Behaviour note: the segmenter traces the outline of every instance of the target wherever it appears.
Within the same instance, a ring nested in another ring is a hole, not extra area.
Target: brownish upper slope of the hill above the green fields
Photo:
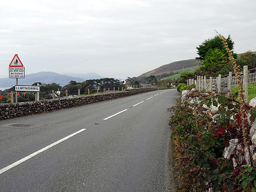
[[[137,78],[148,77],[150,75],[157,75],[157,74],[166,73],[174,70],[180,70],[182,68],[194,67],[197,65],[198,65],[198,60],[195,60],[195,59],[175,61],[166,65],[162,65],[154,70],[143,73]],[[202,65],[201,61],[199,61],[199,65]]]

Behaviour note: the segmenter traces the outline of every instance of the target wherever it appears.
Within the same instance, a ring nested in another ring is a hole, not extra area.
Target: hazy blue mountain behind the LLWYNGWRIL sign
[[[34,82],[50,84],[55,82],[60,86],[67,85],[70,81],[84,82],[83,78],[60,75],[54,72],[39,72],[25,75],[25,78],[18,78],[18,85],[32,85]],[[12,87],[16,84],[15,78],[0,78],[0,87]]]

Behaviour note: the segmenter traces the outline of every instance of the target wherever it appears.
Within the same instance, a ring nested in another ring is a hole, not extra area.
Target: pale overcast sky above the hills
[[[256,51],[255,0],[0,0],[0,78],[18,54],[26,74],[139,76],[197,57],[196,46],[231,36]]]

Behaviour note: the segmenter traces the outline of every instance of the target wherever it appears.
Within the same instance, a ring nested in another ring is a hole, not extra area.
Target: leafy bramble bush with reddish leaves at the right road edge
[[[234,95],[195,94],[193,98],[199,102],[179,102],[172,108],[174,115],[170,119],[178,190],[205,192],[212,188],[214,192],[255,192],[256,166],[244,156],[239,102],[234,100]],[[211,105],[218,107],[218,114],[207,111]],[[246,108],[253,121],[256,108]],[[250,126],[247,126],[249,138]],[[237,144],[232,154],[224,158],[224,148],[235,138],[241,149]]]

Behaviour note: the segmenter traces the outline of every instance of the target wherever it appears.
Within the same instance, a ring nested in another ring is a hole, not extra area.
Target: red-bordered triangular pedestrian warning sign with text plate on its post
[[[15,54],[12,61],[9,64],[9,78],[16,78],[16,85],[18,85],[18,78],[25,78],[25,67],[23,66],[18,54]],[[16,91],[16,103],[18,102],[18,96]]]

